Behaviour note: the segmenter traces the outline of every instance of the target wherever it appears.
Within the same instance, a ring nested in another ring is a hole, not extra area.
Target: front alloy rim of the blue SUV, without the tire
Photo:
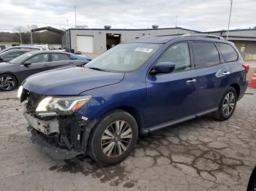
[[[132,141],[132,128],[123,120],[111,123],[105,128],[101,138],[102,152],[108,157],[118,157]]]

